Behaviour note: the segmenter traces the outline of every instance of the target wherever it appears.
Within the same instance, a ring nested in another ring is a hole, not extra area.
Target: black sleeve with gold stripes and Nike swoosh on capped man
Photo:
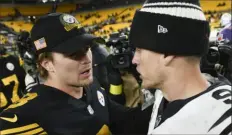
[[[38,124],[35,116],[38,109],[35,107],[36,93],[28,93],[18,102],[11,104],[0,114],[0,134],[46,134]]]

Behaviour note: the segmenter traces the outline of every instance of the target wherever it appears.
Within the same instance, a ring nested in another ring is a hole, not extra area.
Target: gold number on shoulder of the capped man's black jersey
[[[21,98],[19,101],[15,102],[14,104],[11,104],[7,109],[22,106],[26,104],[29,100],[32,100],[37,96],[38,96],[37,93],[27,93],[23,98]]]

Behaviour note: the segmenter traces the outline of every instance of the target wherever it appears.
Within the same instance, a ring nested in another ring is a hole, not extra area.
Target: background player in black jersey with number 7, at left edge
[[[0,112],[23,96],[25,74],[19,57],[0,46]]]

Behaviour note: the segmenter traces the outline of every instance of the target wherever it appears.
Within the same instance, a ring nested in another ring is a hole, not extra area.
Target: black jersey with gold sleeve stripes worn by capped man
[[[76,99],[53,87],[35,86],[0,114],[0,134],[109,135],[120,133],[129,118],[128,123],[135,123],[133,115],[140,109],[110,101],[94,84],[84,91]]]

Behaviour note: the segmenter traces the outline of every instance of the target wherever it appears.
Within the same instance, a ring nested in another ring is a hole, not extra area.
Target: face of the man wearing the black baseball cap
[[[92,53],[89,48],[71,55],[54,53],[53,57],[55,75],[62,83],[82,87],[93,81]]]

